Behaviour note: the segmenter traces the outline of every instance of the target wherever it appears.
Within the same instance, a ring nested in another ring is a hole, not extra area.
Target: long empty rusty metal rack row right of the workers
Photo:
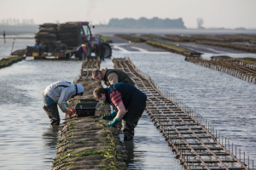
[[[186,169],[249,170],[250,164],[253,169],[253,161],[250,162],[249,156],[246,159],[245,152],[242,154],[241,150],[237,150],[206,119],[174,95],[159,90],[160,87],[150,77],[144,77],[130,59],[113,59],[113,63],[148,96],[148,115]]]

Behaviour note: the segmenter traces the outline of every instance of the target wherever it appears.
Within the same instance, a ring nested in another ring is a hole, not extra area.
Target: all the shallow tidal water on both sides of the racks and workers
[[[20,47],[34,43],[24,41]],[[230,144],[256,160],[256,84],[186,62],[178,54],[131,52],[122,46],[114,49],[113,57],[129,57],[161,88],[207,118],[214,129],[230,139]],[[0,53],[9,52],[1,47]],[[101,66],[113,68],[111,59],[105,60]],[[52,82],[73,82],[81,63],[27,58],[0,69],[0,169],[51,168],[60,132],[49,126],[42,109],[42,93]],[[64,117],[61,111],[60,116]],[[125,145],[130,169],[182,169],[147,114],[136,127],[134,140]]]

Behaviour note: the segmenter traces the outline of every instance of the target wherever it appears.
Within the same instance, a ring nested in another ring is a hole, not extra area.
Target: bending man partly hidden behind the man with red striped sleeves
[[[131,80],[125,72],[119,71],[117,69],[96,69],[92,71],[92,78],[96,79],[96,81],[103,81],[106,86],[110,86],[111,84],[115,84],[118,82],[125,82],[134,86],[135,83]]]

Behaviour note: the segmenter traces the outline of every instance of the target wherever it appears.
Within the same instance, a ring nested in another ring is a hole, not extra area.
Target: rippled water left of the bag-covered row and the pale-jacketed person
[[[81,63],[26,59],[0,70],[0,169],[50,169],[60,133],[49,126],[42,94],[52,82],[73,82]]]

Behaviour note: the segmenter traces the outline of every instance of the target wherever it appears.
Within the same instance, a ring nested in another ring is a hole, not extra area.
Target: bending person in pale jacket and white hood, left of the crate
[[[60,115],[57,105],[61,108],[61,111],[72,116],[76,114],[76,110],[70,105],[66,105],[67,100],[73,98],[76,95],[82,96],[84,94],[84,87],[82,84],[73,84],[72,82],[54,82],[50,84],[44,90],[44,111],[49,116],[50,124],[60,124]]]

